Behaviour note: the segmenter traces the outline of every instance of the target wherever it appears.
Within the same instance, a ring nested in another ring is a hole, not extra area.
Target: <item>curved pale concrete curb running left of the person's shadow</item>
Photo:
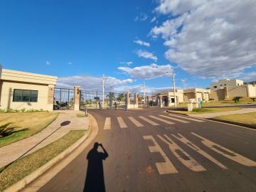
[[[72,151],[74,151],[76,148],[78,148],[78,146],[80,146],[80,144],[82,144],[82,142],[85,142],[85,140],[87,139],[87,137],[90,136],[90,134],[91,134],[91,122],[90,122],[90,118],[89,118],[89,129],[88,129],[88,132],[83,137],[81,137],[77,142],[75,142],[75,144],[73,144],[72,146],[68,147],[68,149],[65,149],[65,151],[63,151],[62,153],[58,154],[58,156],[55,156],[53,159],[48,161],[48,163],[44,164],[43,166],[41,166],[36,171],[33,171],[31,174],[29,174],[28,176],[22,178],[17,183],[14,183],[14,185],[10,186],[9,188],[6,188],[6,190],[4,190],[4,192],[20,191],[22,188],[25,188],[29,183],[31,183],[36,178],[38,178],[39,176],[44,174],[51,167],[53,167],[55,164],[57,164],[63,158],[65,158],[65,156],[68,156],[68,154],[70,154]]]

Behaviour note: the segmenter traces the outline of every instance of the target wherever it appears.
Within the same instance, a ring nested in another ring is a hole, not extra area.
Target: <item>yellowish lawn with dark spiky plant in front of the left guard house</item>
[[[58,113],[53,112],[0,113],[0,125],[11,123],[11,127],[15,127],[13,134],[0,137],[0,147],[40,132],[57,117]]]

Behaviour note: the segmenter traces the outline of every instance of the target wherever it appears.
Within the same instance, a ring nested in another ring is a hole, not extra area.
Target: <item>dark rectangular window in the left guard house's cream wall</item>
[[[38,91],[36,90],[14,90],[13,102],[37,102]]]

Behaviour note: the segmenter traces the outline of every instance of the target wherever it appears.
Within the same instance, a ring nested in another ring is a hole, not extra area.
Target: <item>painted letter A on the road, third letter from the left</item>
[[[203,151],[202,149],[200,149],[198,146],[196,146],[196,144],[193,144],[192,142],[188,141],[188,139],[186,139],[186,137],[183,137],[181,134],[178,134],[178,137],[174,134],[171,134],[173,137],[175,137],[176,139],[178,139],[179,141],[183,142],[183,144],[186,144],[187,146],[189,146],[191,149],[195,150],[196,152],[198,152],[199,154],[201,154],[202,156],[206,157],[206,159],[209,159],[210,161],[212,161],[214,164],[220,166],[222,169],[228,169],[226,166],[224,166],[223,164],[221,164],[219,161],[217,161],[216,159],[213,158],[213,156],[210,156],[208,153],[206,153],[206,151]]]

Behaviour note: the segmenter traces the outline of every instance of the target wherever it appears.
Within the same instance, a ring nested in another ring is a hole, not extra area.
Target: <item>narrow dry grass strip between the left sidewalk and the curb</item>
[[[28,176],[28,174],[31,174],[33,171],[46,164],[78,141],[84,134],[84,130],[70,131],[55,142],[34,151],[32,154],[24,156],[22,159],[14,161],[14,163],[4,169],[4,171],[1,169],[0,191],[4,191],[4,189],[20,181],[21,178]]]

